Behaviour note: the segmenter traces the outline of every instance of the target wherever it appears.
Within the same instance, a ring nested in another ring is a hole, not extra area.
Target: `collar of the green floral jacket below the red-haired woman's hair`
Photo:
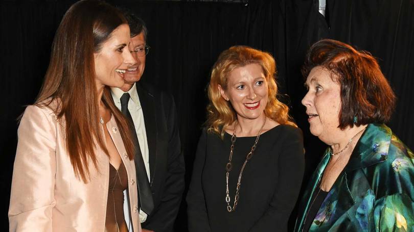
[[[346,172],[384,162],[391,142],[391,129],[384,124],[368,124],[352,152]]]

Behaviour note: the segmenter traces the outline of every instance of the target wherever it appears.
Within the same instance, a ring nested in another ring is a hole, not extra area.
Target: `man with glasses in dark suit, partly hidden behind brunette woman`
[[[172,231],[185,187],[185,164],[174,99],[140,81],[149,50],[147,29],[142,19],[129,12],[124,14],[130,27],[129,49],[137,63],[125,70],[124,86],[112,88],[111,94],[134,129],[132,138],[137,148],[134,161],[143,231]]]

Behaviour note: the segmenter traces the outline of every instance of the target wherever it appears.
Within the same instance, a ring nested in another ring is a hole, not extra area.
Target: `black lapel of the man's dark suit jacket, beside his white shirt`
[[[145,131],[147,134],[148,151],[149,151],[149,167],[150,167],[150,184],[155,173],[155,164],[157,157],[157,115],[155,111],[154,96],[143,88],[139,82],[136,83],[136,91],[140,97],[142,112],[144,114]]]

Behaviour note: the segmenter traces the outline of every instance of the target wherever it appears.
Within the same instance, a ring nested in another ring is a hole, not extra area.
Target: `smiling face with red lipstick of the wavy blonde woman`
[[[218,86],[221,96],[230,101],[238,117],[257,119],[267,105],[268,86],[262,66],[248,64],[227,76],[227,86]]]

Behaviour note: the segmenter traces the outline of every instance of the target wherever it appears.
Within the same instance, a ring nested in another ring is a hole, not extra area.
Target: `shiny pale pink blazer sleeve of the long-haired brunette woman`
[[[21,118],[8,213],[10,231],[52,231],[56,125],[49,108],[29,106]]]

